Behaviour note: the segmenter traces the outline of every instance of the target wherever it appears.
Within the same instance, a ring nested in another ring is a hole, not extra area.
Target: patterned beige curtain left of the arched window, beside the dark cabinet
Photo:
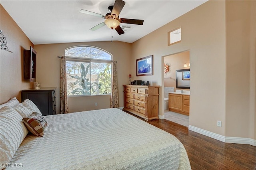
[[[66,57],[61,57],[60,64],[60,114],[68,113],[68,93],[66,75]]]

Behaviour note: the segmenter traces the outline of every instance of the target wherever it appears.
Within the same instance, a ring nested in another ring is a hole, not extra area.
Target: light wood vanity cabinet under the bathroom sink
[[[189,95],[169,93],[169,111],[189,116],[189,102]]]

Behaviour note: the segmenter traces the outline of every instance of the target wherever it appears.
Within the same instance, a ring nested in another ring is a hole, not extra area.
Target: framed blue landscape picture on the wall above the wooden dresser
[[[136,59],[136,75],[153,75],[153,55]]]

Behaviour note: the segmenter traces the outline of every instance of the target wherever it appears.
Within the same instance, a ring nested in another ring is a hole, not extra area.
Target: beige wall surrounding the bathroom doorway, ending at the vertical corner
[[[164,57],[190,50],[190,125],[225,134],[225,2],[208,1],[132,44],[132,68],[136,59],[154,55],[154,75],[160,85],[160,115],[163,111]],[[167,32],[181,26],[182,41],[167,46]],[[212,67],[209,67],[211,65]],[[134,69],[132,69],[134,70]],[[161,76],[162,75],[162,76]],[[148,77],[142,77],[143,80]],[[216,107],[218,106],[218,107]]]

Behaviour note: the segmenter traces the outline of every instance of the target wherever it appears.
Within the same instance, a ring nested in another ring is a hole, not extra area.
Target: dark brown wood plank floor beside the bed
[[[256,170],[255,146],[224,143],[166,119],[148,123],[173,134],[182,142],[192,170]]]

